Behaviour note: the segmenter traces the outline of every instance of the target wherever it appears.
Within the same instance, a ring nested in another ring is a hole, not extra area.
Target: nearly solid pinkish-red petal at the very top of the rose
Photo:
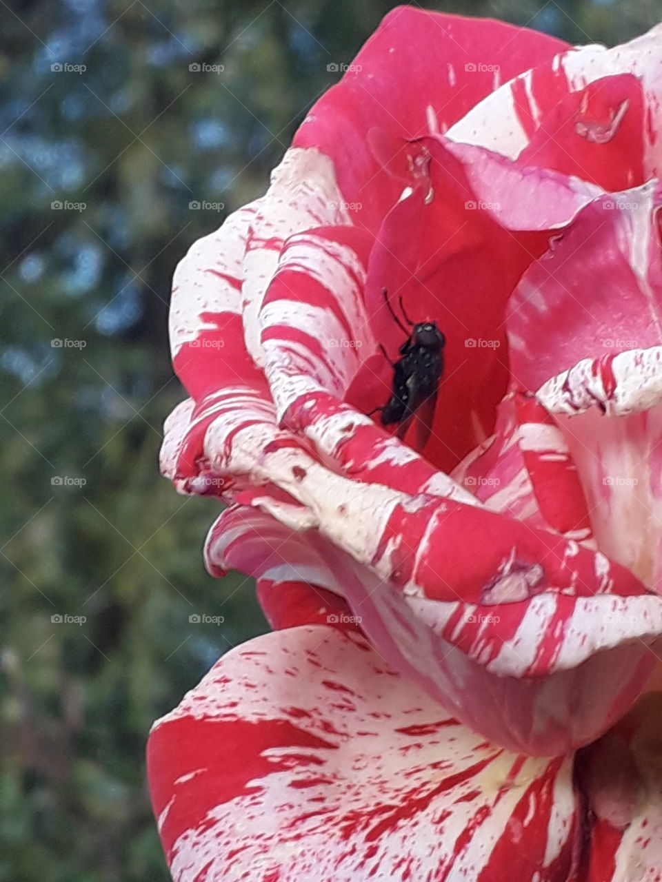
[[[563,49],[553,37],[500,21],[400,6],[312,107],[294,143],[333,158],[351,213],[375,233],[402,185],[373,150],[371,131],[402,140],[446,131],[500,83]]]

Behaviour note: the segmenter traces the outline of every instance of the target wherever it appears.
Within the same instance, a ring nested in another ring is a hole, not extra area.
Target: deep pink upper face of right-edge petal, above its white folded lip
[[[662,343],[658,183],[608,194],[583,208],[508,303],[516,381],[536,390],[583,359]],[[546,402],[545,402],[546,404]]]

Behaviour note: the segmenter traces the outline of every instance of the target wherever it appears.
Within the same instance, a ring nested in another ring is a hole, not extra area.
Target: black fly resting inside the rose
[[[387,303],[397,325],[407,334],[407,340],[400,347],[400,358],[393,364],[393,390],[381,410],[381,422],[384,426],[399,423],[397,437],[404,437],[414,417],[417,418],[417,446],[425,445],[433,423],[434,405],[441,375],[444,370],[443,350],[446,338],[434,322],[414,324],[408,318],[400,298],[400,309],[410,325],[408,330],[395,315],[393,306],[388,300],[387,289],[382,288]],[[386,351],[382,347],[384,355]],[[388,357],[388,356],[387,356]],[[372,411],[374,413],[374,411]]]

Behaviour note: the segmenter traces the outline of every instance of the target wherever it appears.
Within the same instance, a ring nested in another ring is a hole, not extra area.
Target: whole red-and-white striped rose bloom
[[[178,266],[162,470],[275,631],[154,725],[177,882],[662,879],[661,131],[660,27],[398,8]]]

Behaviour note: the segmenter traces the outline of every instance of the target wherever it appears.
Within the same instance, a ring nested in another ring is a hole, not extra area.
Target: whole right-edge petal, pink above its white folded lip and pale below
[[[508,316],[515,376],[537,391],[566,439],[599,548],[656,591],[660,207],[662,191],[653,182],[584,208],[524,275]]]

